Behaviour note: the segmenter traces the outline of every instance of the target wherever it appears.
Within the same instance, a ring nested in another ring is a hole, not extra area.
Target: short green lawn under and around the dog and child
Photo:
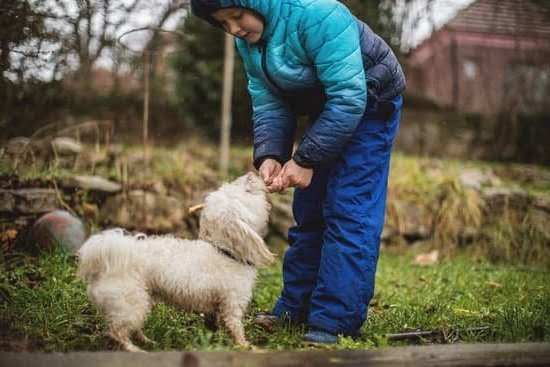
[[[369,320],[360,338],[342,338],[334,348],[365,349],[411,343],[550,342],[550,272],[536,266],[495,266],[457,256],[430,267],[410,265],[407,249],[384,249]],[[63,253],[0,262],[0,349],[48,352],[104,350],[114,345],[89,305],[85,285],[75,278],[74,260]],[[260,271],[246,335],[254,348],[295,350],[304,326],[264,331],[252,324],[268,311],[282,285],[281,264]],[[467,329],[486,327],[483,332]],[[387,334],[438,330],[420,341],[388,340]],[[457,332],[458,330],[458,332]],[[223,329],[212,331],[199,315],[160,304],[145,333],[157,342],[148,350],[231,350]]]

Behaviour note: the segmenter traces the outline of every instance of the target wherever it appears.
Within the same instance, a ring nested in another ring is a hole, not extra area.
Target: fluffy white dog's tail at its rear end
[[[78,250],[77,276],[89,281],[99,273],[132,271],[130,264],[135,263],[134,258],[139,252],[135,248],[138,239],[139,236],[128,235],[120,228],[91,236]]]

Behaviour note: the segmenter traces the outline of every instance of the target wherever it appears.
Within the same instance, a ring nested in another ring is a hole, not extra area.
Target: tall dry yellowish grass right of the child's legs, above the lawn
[[[450,257],[459,247],[473,245],[470,254],[491,262],[550,265],[550,231],[535,208],[506,207],[492,211],[481,195],[467,189],[458,179],[464,169],[497,172],[495,185],[521,189],[534,195],[550,195],[545,167],[419,158],[394,154],[388,188],[386,223],[399,227],[410,211],[402,213],[399,203],[414,203],[428,215],[434,247]],[[424,221],[426,222],[426,221]]]

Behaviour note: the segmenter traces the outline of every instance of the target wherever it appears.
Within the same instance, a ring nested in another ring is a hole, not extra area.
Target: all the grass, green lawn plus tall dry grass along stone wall
[[[189,139],[176,148],[155,147],[152,154],[150,164],[145,166],[139,147],[124,146],[111,165],[83,163],[77,169],[21,165],[17,173],[21,180],[48,181],[73,173],[97,174],[130,187],[146,188],[162,181],[170,192],[183,195],[219,184],[217,153],[209,144]],[[231,154],[228,179],[252,169],[249,147],[234,147]],[[0,173],[12,173],[1,150],[0,158]],[[368,322],[358,339],[342,338],[335,348],[365,349],[413,342],[550,342],[550,233],[536,227],[529,212],[519,213],[519,217],[518,213],[505,212],[489,221],[483,219],[479,196],[465,190],[456,179],[463,168],[491,170],[506,186],[550,193],[545,180],[550,171],[545,168],[394,154],[388,219],[399,223],[403,215],[392,206],[393,200],[426,207],[433,218],[430,240],[442,252],[442,261],[430,267],[415,267],[410,265],[413,249],[398,245],[384,248]],[[81,202],[91,200],[86,192],[81,195]],[[7,228],[11,227],[2,227]],[[481,230],[470,242],[460,244],[459,236],[468,228]],[[284,247],[277,237],[272,238],[271,245],[274,249]],[[266,332],[252,323],[254,315],[271,309],[281,287],[280,263],[260,272],[246,316],[247,337],[258,349],[303,348],[300,341],[304,326],[285,325]],[[487,329],[468,331],[478,327]],[[0,254],[0,350],[113,348],[104,330],[100,315],[87,301],[85,285],[75,278],[74,259],[61,252],[39,258]],[[438,333],[408,342],[387,337],[411,330]],[[234,348],[223,329],[210,330],[199,315],[184,314],[164,304],[151,313],[145,333],[157,341],[156,345],[146,346],[149,350]]]

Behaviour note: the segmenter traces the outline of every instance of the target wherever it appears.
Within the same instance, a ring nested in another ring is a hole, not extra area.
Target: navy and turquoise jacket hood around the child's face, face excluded
[[[269,39],[281,13],[281,0],[191,0],[191,12],[197,17],[220,27],[212,13],[224,8],[245,8],[260,15],[264,22],[262,39]]]

